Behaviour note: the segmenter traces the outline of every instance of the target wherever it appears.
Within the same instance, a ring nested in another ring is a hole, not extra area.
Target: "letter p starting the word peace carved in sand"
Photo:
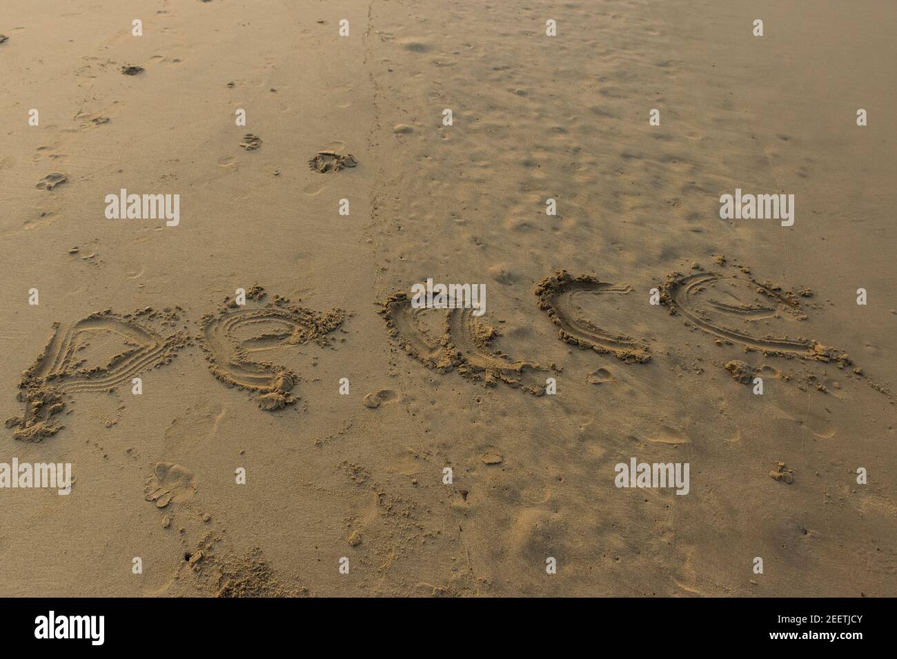
[[[178,320],[176,311],[145,308],[126,316],[107,309],[65,330],[54,323],[53,335],[19,383],[17,399],[25,403],[25,411],[7,419],[6,428],[25,441],[56,435],[64,428],[55,420],[65,409],[64,395],[129,386],[138,373],[169,363],[186,345],[187,335],[164,334],[161,326],[174,327]],[[99,363],[87,366],[89,358]]]

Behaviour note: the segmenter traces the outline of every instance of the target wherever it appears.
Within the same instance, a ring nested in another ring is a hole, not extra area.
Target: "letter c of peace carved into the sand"
[[[565,270],[560,270],[553,277],[545,277],[536,285],[536,297],[539,299],[539,308],[558,326],[558,338],[561,341],[599,353],[612,354],[626,362],[644,363],[651,359],[647,342],[628,334],[605,330],[574,312],[579,295],[625,295],[630,290],[628,286],[600,282],[588,274],[573,277]]]

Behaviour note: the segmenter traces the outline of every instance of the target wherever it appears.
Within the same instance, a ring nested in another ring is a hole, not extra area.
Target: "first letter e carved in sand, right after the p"
[[[319,314],[278,295],[268,304],[265,298],[265,290],[254,286],[247,292],[246,307],[225,299],[219,313],[203,318],[202,340],[214,377],[256,392],[258,406],[271,411],[295,402],[290,391],[298,377],[286,367],[253,360],[251,354],[309,341],[327,344],[327,334],[342,325],[345,312],[333,308]]]

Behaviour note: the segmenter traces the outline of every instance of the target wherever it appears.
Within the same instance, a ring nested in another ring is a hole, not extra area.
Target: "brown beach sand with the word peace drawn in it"
[[[897,594],[895,21],[4,0],[0,594]]]

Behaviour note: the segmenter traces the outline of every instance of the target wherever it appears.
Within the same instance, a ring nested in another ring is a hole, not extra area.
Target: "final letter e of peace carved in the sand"
[[[692,268],[697,269],[697,268]],[[739,343],[761,351],[804,360],[850,363],[848,355],[814,339],[791,339],[784,334],[761,334],[762,325],[806,318],[796,293],[756,282],[745,274],[673,273],[661,289],[660,301],[671,314],[682,316],[724,343]]]

